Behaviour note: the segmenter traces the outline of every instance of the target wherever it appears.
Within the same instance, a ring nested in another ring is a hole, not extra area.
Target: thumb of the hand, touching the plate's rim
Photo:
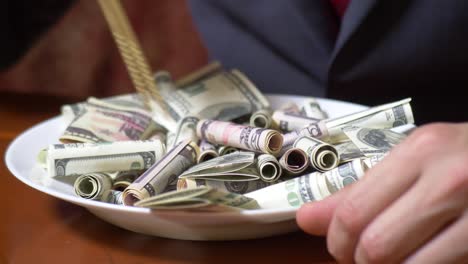
[[[296,213],[299,227],[311,235],[326,235],[336,207],[346,197],[353,185],[341,189],[321,201],[304,204]]]

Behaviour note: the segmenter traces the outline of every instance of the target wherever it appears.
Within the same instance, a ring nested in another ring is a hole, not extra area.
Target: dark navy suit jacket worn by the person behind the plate
[[[417,124],[468,121],[468,1],[190,0],[213,59],[270,93],[366,105],[412,97]]]

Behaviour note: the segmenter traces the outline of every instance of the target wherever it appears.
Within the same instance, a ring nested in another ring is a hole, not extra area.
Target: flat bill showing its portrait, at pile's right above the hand
[[[390,129],[347,126],[343,132],[368,157],[385,154],[406,138],[405,134]]]

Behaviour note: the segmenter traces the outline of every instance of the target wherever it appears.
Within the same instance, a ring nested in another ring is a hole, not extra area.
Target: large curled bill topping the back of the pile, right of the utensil
[[[219,71],[179,89],[167,72],[158,72],[155,79],[169,115],[153,113],[153,118],[171,132],[186,116],[227,121],[270,107],[266,97],[236,69]]]

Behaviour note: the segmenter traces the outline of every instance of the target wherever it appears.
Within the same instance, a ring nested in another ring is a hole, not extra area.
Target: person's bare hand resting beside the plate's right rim
[[[415,129],[357,183],[304,205],[297,222],[327,234],[349,263],[468,259],[468,123]]]

